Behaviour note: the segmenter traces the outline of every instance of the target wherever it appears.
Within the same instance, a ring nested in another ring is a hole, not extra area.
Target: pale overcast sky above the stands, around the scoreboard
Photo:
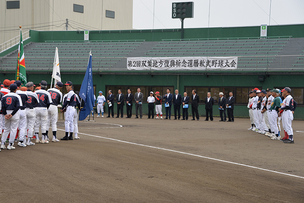
[[[180,20],[171,18],[172,2],[184,1],[185,0],[133,0],[133,28],[180,28]],[[270,25],[304,24],[304,0],[190,1],[194,2],[194,18],[185,19],[185,28],[269,24],[270,2]]]

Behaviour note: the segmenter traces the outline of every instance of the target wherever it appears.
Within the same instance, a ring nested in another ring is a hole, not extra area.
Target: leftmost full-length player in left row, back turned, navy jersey
[[[19,125],[19,107],[22,106],[21,98],[16,94],[17,85],[10,85],[10,93],[3,96],[2,103],[2,114],[5,117],[4,120],[4,132],[1,139],[1,149],[5,149],[5,142],[8,134],[16,135],[17,127]],[[8,150],[15,149],[14,147],[15,136],[10,136]]]

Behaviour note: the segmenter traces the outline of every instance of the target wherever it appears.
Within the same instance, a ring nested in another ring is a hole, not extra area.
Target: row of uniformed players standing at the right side
[[[251,127],[255,131],[270,137],[272,140],[281,140],[293,144],[292,121],[297,103],[291,96],[291,89],[259,90],[249,92],[249,116]],[[281,121],[284,137],[281,137]]]

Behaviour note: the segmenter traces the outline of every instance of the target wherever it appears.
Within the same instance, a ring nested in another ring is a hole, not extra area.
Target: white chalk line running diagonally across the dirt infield
[[[119,124],[116,124],[116,125],[119,125]],[[123,127],[122,125],[120,125],[120,126]],[[58,129],[58,130],[65,131],[64,129]],[[283,173],[283,172],[274,171],[274,170],[270,170],[270,169],[260,168],[260,167],[251,166],[251,165],[247,165],[247,164],[241,164],[241,163],[237,163],[237,162],[233,162],[233,161],[226,161],[226,160],[207,157],[207,156],[202,156],[202,155],[198,155],[198,154],[192,154],[192,153],[188,153],[188,152],[182,152],[182,151],[173,150],[173,149],[167,149],[167,148],[156,147],[156,146],[151,146],[151,145],[146,145],[146,144],[129,142],[129,141],[125,141],[125,140],[119,140],[119,139],[116,139],[116,138],[103,137],[103,136],[98,136],[98,135],[91,135],[91,134],[88,134],[88,133],[78,133],[78,134],[86,135],[86,136],[89,136],[89,137],[95,137],[95,138],[99,138],[99,139],[111,140],[111,141],[114,141],[114,142],[120,142],[120,143],[135,145],[135,146],[141,146],[141,147],[146,147],[146,148],[151,148],[151,149],[158,149],[158,150],[162,150],[162,151],[167,151],[167,152],[173,152],[173,153],[177,153],[177,154],[183,154],[183,155],[198,157],[198,158],[202,158],[202,159],[208,159],[208,160],[222,162],[222,163],[226,163],[226,164],[243,166],[243,167],[246,167],[246,168],[256,169],[256,170],[260,170],[260,171],[266,171],[266,172],[275,173],[275,174],[284,175],[284,176],[289,176],[289,177],[294,177],[294,178],[304,179],[303,176],[293,175],[293,174],[289,174],[289,173]]]

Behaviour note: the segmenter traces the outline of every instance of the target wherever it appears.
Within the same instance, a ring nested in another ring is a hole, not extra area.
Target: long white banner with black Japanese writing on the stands
[[[206,70],[236,69],[238,57],[133,57],[128,70]]]

